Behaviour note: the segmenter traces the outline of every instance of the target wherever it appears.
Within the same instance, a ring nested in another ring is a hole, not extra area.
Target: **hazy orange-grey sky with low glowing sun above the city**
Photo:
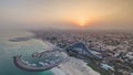
[[[0,0],[0,29],[132,30],[133,0]]]

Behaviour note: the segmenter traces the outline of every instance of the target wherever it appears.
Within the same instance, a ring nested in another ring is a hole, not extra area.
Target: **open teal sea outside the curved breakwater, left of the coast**
[[[22,42],[10,42],[10,39],[30,35],[25,31],[0,31],[0,75],[53,75],[51,71],[45,72],[25,72],[18,68],[13,63],[13,56],[22,54],[30,58],[30,55],[37,51],[45,49],[44,43],[39,40],[29,40]]]

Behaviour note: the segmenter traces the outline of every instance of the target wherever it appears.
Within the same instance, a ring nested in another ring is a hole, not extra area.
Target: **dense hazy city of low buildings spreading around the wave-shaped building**
[[[79,30],[32,31],[37,39],[49,41],[64,49],[82,42],[92,51],[100,52],[102,61],[84,60],[89,66],[101,75],[132,75],[133,72],[133,34],[122,32],[94,32]],[[93,62],[93,64],[90,63]],[[96,67],[94,67],[96,66]]]

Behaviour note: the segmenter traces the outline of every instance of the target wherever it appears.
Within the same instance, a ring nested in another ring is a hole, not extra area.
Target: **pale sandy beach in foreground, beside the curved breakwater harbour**
[[[55,75],[100,75],[81,60],[71,57],[69,62],[51,69]]]

